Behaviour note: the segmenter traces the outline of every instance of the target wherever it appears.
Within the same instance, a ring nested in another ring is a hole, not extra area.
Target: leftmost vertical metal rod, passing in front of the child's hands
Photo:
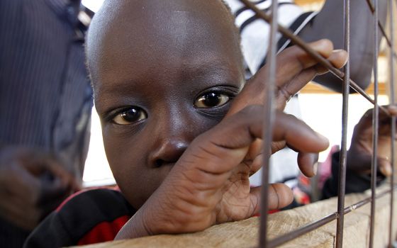
[[[277,34],[277,11],[278,1],[272,0],[272,19],[270,22],[270,38],[267,57],[269,58],[269,79],[267,80],[266,102],[264,103],[264,122],[263,122],[263,169],[262,169],[262,192],[261,192],[261,219],[259,227],[259,247],[267,247],[267,217],[269,211],[269,169],[274,120],[274,89],[276,85],[276,34]]]

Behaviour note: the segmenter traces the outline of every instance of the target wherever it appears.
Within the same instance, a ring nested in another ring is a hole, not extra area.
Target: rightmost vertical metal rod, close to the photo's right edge
[[[395,96],[394,96],[394,9],[393,9],[393,0],[389,0],[389,9],[390,9],[390,103],[392,105],[396,104]],[[393,247],[393,210],[394,210],[394,161],[396,157],[394,157],[394,149],[396,145],[396,117],[391,118],[391,179],[390,179],[390,187],[391,187],[391,195],[390,195],[390,222],[388,226],[388,247]]]

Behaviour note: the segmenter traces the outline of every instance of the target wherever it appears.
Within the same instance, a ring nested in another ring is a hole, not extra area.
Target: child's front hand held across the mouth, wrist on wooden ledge
[[[249,176],[259,163],[245,160],[262,138],[263,106],[249,106],[199,135],[150,196],[118,233],[117,239],[204,230],[242,220],[259,211],[260,187],[250,188]],[[320,152],[328,140],[292,115],[277,112],[274,140],[286,140],[301,152]],[[292,201],[284,184],[269,188],[269,208]]]

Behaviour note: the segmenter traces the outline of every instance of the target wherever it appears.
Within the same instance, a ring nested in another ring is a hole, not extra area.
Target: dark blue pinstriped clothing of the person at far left
[[[52,152],[81,179],[92,93],[79,6],[69,0],[0,1],[0,147]],[[21,247],[27,232],[17,230],[0,220],[0,247]],[[14,238],[19,245],[11,246]]]

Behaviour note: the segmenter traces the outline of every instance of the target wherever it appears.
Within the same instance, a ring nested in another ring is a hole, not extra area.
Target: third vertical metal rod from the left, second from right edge
[[[372,114],[372,163],[371,163],[371,218],[369,231],[369,247],[374,247],[374,225],[375,225],[375,203],[376,203],[376,172],[378,171],[378,124],[379,124],[379,108],[378,108],[378,55],[379,55],[379,31],[378,31],[378,0],[374,0],[374,111]]]

